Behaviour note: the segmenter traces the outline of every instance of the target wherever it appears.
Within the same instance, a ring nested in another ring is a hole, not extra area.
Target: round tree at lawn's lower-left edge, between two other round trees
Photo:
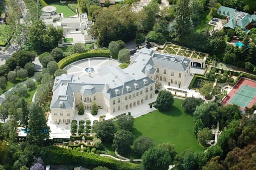
[[[114,134],[113,148],[118,153],[124,154],[130,151],[130,145],[133,143],[133,135],[129,131],[120,130]]]

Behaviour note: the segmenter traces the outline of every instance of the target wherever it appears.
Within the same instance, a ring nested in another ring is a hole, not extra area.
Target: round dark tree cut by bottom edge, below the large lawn
[[[146,170],[167,170],[170,159],[168,151],[158,147],[149,148],[141,157]]]

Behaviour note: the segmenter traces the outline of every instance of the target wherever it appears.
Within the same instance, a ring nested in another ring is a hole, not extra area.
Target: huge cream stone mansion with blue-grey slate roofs
[[[190,60],[141,49],[130,57],[126,69],[107,65],[98,70],[88,67],[85,72],[88,76],[83,79],[72,74],[56,77],[50,106],[52,123],[70,123],[79,101],[85,109],[91,109],[96,101],[109,114],[139,107],[154,95],[155,80],[183,85],[189,77]]]

